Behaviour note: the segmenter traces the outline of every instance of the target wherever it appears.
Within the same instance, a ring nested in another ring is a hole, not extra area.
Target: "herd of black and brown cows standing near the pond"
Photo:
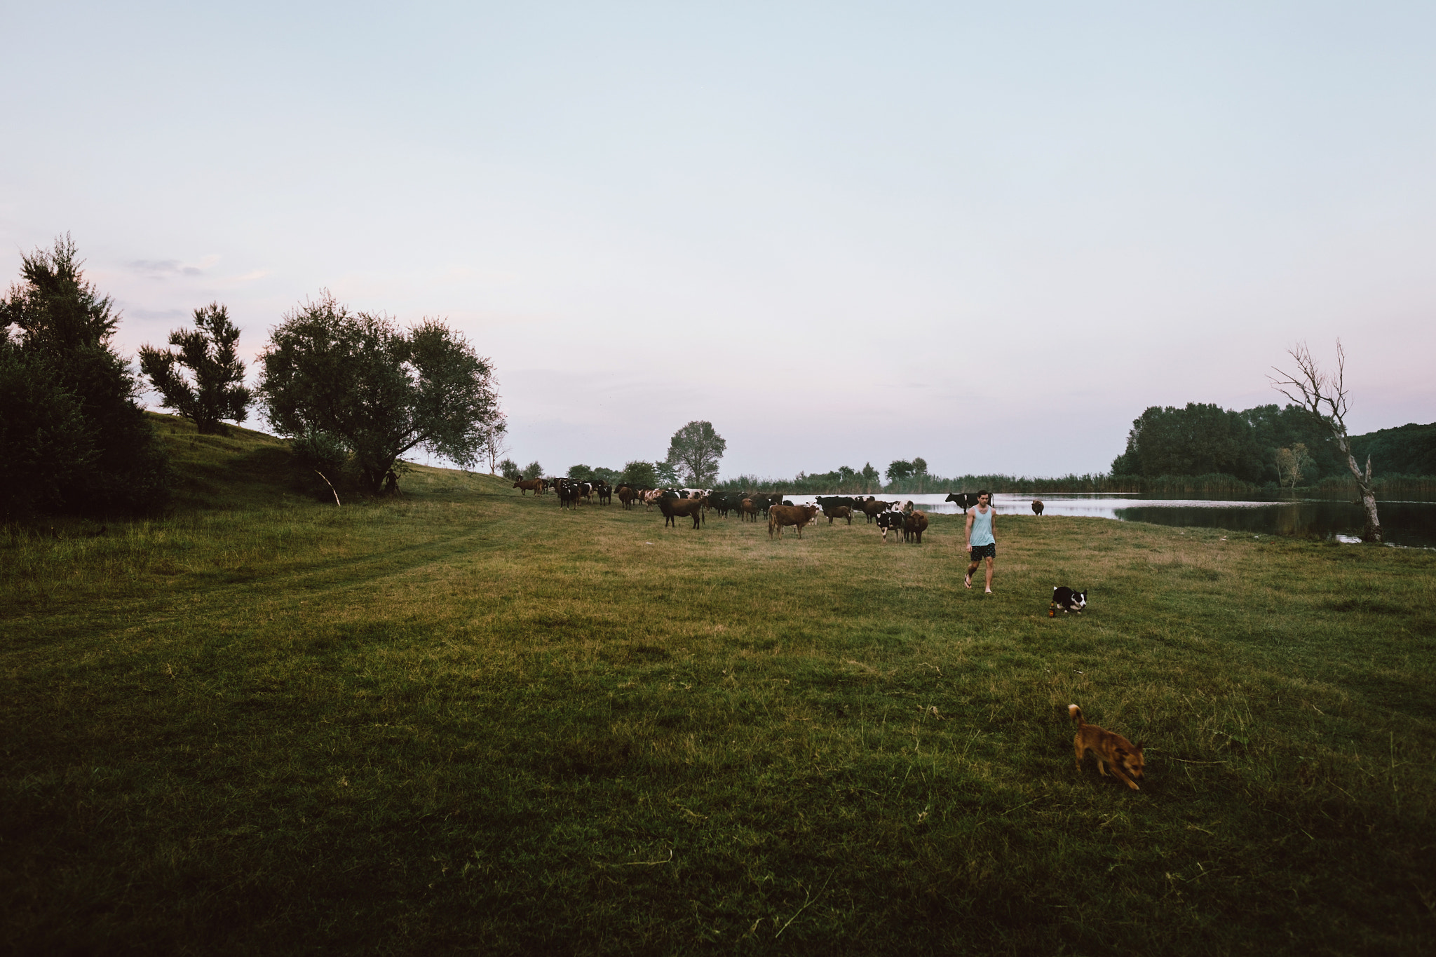
[[[607,482],[579,482],[566,478],[537,478],[514,482],[520,495],[533,492],[543,495],[553,489],[559,496],[559,508],[577,508],[580,502],[610,505],[615,498],[623,508],[633,508],[635,502],[645,508],[658,506],[663,514],[663,528],[672,525],[678,528],[679,518],[691,518],[694,528],[699,528],[707,521],[709,511],[718,512],[722,518],[737,512],[738,521],[758,521],[758,515],[768,519],[768,538],[777,532],[783,538],[783,529],[793,525],[798,538],[803,538],[803,528],[817,521],[819,515],[827,518],[831,525],[837,519],[853,524],[854,515],[863,515],[869,524],[876,524],[882,529],[883,541],[887,532],[893,532],[896,541],[902,534],[903,541],[922,544],[922,534],[928,531],[928,517],[913,509],[912,502],[885,502],[873,498],[856,498],[850,495],[819,495],[814,505],[794,505],[781,495],[768,492],[711,492],[694,488],[633,488]],[[952,492],[946,501],[956,502],[958,508],[966,511],[978,504],[978,496],[971,492]],[[1041,502],[1032,502],[1032,511],[1041,515]]]

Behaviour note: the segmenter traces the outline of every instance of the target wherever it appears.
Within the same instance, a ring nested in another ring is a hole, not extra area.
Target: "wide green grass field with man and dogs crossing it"
[[[984,598],[952,517],[336,508],[162,430],[172,517],[0,538],[13,951],[1436,944],[1432,552],[1004,517]]]

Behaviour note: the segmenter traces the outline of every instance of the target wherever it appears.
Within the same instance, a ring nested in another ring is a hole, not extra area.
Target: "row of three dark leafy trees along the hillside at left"
[[[253,403],[296,461],[330,486],[378,494],[414,451],[471,466],[505,430],[493,363],[425,319],[401,327],[323,293],[286,313],[244,386],[240,330],[220,303],[194,310],[172,349],[144,346],[139,374],[113,349],[113,300],[80,271],[75,242],[22,255],[0,298],[0,514],[139,514],[174,475],[138,396],[223,435]],[[337,496],[336,496],[337,498]]]

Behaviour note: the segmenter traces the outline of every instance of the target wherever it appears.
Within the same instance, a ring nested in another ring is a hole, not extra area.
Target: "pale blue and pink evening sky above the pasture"
[[[128,356],[214,300],[247,359],[323,290],[442,319],[550,473],[694,419],[724,476],[1100,472],[1147,406],[1279,402],[1337,339],[1353,433],[1436,420],[1436,4],[0,24],[0,281],[70,234]]]

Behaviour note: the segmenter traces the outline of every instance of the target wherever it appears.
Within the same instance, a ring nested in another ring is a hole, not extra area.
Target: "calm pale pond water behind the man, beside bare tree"
[[[946,492],[929,495],[879,495],[892,501],[912,501],[925,512],[956,512],[943,502]],[[1229,528],[1252,535],[1320,535],[1358,541],[1364,515],[1360,505],[1317,499],[1232,501],[1199,498],[1143,498],[1142,495],[1041,495],[1044,515],[1083,515],[1114,518],[1126,522],[1157,525]],[[811,502],[811,495],[790,495],[797,504]],[[1031,515],[1031,495],[995,495],[998,515]],[[1436,548],[1436,502],[1377,501],[1381,531],[1396,545]]]

